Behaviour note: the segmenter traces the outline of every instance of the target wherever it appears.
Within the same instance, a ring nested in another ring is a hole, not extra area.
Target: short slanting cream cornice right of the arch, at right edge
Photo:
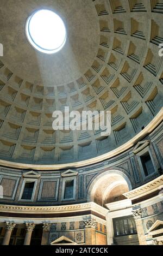
[[[162,187],[163,187],[163,175],[161,175],[158,178],[155,178],[155,180],[150,181],[139,188],[135,188],[127,193],[124,193],[123,195],[128,199],[134,200],[134,199],[143,197],[149,193],[152,193],[155,190],[161,189]]]

